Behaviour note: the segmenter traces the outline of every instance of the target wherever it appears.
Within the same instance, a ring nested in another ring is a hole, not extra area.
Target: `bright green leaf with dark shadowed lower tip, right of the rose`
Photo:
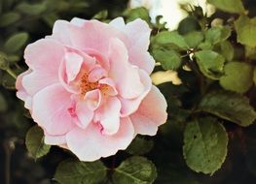
[[[201,73],[211,79],[219,79],[223,74],[225,59],[212,50],[201,50],[195,53]]]

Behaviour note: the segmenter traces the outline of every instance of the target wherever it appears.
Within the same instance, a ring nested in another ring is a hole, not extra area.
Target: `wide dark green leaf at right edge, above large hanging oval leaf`
[[[256,119],[256,111],[250,106],[249,99],[229,91],[206,94],[201,99],[199,110],[237,123],[242,127],[249,126]]]

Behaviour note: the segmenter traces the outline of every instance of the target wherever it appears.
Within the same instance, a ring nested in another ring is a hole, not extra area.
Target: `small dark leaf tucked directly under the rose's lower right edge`
[[[154,141],[151,139],[136,137],[129,144],[127,151],[131,155],[144,155],[151,151]]]

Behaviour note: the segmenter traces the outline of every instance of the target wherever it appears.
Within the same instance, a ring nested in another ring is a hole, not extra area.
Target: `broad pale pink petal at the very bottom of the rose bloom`
[[[116,135],[102,135],[100,129],[95,123],[91,123],[86,130],[74,129],[66,137],[68,148],[81,161],[95,161],[126,149],[134,137],[134,129],[129,118],[121,119],[120,130]]]

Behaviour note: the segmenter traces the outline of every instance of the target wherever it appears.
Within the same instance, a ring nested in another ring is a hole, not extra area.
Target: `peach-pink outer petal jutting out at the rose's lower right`
[[[129,116],[136,134],[156,135],[158,127],[166,121],[166,107],[165,97],[160,90],[153,85],[138,110]]]

